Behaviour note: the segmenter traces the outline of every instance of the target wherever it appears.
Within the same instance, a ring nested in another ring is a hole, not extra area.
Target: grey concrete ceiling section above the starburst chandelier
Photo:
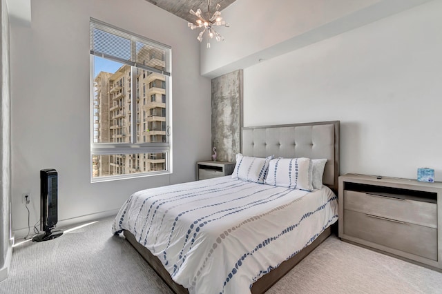
[[[158,6],[159,8],[162,8],[166,11],[171,12],[172,14],[175,14],[177,17],[181,17],[182,19],[185,19],[189,22],[194,22],[196,17],[195,15],[192,15],[189,13],[191,9],[197,10],[200,8],[202,12],[207,11],[207,1],[206,0],[146,0],[150,3],[152,3],[155,6]],[[215,12],[215,6],[216,4],[220,3],[220,10],[223,10],[227,6],[229,6],[231,3],[235,2],[236,0],[213,0],[211,3],[211,12]]]

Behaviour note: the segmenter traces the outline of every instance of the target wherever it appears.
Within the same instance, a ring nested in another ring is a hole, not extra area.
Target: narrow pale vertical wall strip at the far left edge
[[[0,282],[8,277],[8,268],[12,255],[12,238],[10,222],[11,203],[11,131],[10,131],[10,62],[9,62],[9,17],[6,0],[0,3],[1,18],[1,104],[0,104]]]

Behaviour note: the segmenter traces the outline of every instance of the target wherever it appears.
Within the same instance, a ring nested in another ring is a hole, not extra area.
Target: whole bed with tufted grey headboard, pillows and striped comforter
[[[338,219],[339,125],[242,128],[232,176],[138,191],[113,233],[124,232],[175,293],[264,293]],[[316,188],[314,173],[301,173],[313,159],[327,159]]]

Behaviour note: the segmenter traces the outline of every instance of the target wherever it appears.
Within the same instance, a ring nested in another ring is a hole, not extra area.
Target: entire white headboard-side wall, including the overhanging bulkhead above
[[[244,126],[340,120],[341,174],[442,181],[442,1],[329,2],[236,1],[202,75],[244,68]]]

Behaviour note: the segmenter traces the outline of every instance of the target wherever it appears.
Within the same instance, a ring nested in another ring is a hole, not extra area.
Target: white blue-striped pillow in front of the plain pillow
[[[265,184],[311,191],[312,173],[313,166],[309,158],[272,159]]]

